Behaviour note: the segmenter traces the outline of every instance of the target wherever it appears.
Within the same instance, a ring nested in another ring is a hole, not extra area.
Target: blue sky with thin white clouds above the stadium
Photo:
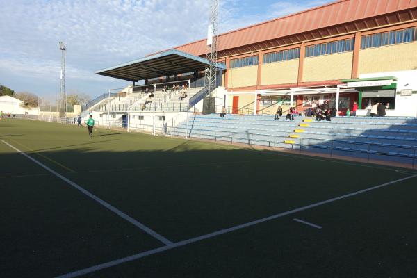
[[[224,33],[329,0],[220,0]],[[130,85],[94,74],[206,36],[209,0],[0,0],[0,84],[43,97],[60,90],[59,41],[67,43],[66,91],[97,97]]]

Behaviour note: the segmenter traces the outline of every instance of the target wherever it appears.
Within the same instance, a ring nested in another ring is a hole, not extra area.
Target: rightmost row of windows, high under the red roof
[[[414,41],[417,41],[417,28],[407,28],[386,33],[364,35],[361,38],[361,49]]]

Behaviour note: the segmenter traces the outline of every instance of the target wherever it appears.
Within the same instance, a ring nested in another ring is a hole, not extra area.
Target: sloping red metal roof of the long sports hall
[[[417,0],[336,1],[328,3],[324,6],[304,10],[300,13],[279,17],[268,22],[223,33],[222,35],[219,35],[218,51],[224,51],[224,54],[227,54],[228,49],[234,49],[270,40],[277,40],[279,38],[295,34],[346,24],[348,22],[357,22],[361,19],[395,13],[410,8],[417,8]],[[409,13],[409,15],[406,14],[406,17],[406,20],[417,19],[416,11],[413,10]],[[389,17],[386,18],[385,22],[382,22],[382,24],[391,23],[392,22],[389,21]],[[342,28],[341,33],[343,33],[343,31],[350,30],[347,27],[345,29]],[[332,35],[332,32],[328,33]],[[291,39],[290,42],[292,42]],[[189,54],[201,56],[206,54],[206,39],[191,42],[189,44],[183,44],[174,48]],[[229,55],[230,54],[232,53],[229,53]]]

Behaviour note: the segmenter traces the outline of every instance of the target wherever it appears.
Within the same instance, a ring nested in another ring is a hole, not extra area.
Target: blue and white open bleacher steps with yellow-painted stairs
[[[316,122],[308,117],[294,121],[273,120],[265,115],[193,115],[188,133],[195,138],[215,138],[231,142],[297,148],[314,152],[334,152],[342,155],[368,157],[387,156],[389,161],[417,158],[417,120],[336,117],[332,122]],[[307,129],[298,129],[303,127]],[[186,133],[180,124],[178,133]],[[289,138],[289,139],[288,139]]]

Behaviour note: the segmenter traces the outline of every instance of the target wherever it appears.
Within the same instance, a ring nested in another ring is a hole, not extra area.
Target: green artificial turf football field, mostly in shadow
[[[417,277],[411,170],[9,119],[0,157],[1,278]]]

